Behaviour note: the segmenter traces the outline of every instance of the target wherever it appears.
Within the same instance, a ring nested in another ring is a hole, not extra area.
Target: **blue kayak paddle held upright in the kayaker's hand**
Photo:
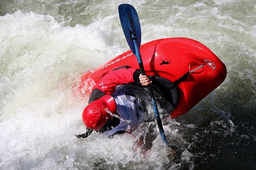
[[[121,4],[118,6],[118,12],[119,12],[119,17],[122,25],[122,29],[124,31],[124,35],[126,38],[126,41],[132,50],[132,53],[137,57],[140,70],[142,75],[146,75],[144,66],[142,63],[141,55],[140,55],[140,43],[141,43],[141,30],[140,30],[140,20],[138,17],[138,14],[136,10],[133,8],[133,6],[129,4]],[[154,108],[154,113],[156,117],[156,122],[158,125],[158,129],[162,138],[162,141],[166,144],[169,145],[166,136],[164,134],[164,129],[162,126],[162,122],[160,119],[160,115],[158,113],[158,108],[156,105],[156,100],[154,98],[154,94],[152,92],[151,86],[147,86],[148,92],[150,94],[151,102]]]

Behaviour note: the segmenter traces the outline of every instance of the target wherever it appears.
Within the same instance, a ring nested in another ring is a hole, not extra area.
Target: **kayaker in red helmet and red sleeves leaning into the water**
[[[128,83],[148,86],[152,81],[142,76],[141,71],[130,66],[118,67],[108,72],[93,88],[82,113],[86,133],[76,135],[85,138],[92,131],[110,136],[116,133],[132,132],[138,125],[146,103],[136,98],[129,89],[119,86]]]

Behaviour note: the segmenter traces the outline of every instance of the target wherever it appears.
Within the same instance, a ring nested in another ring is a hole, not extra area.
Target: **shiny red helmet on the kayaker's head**
[[[112,113],[116,112],[116,102],[112,96],[104,95],[91,102],[82,113],[84,125],[95,131],[102,129],[108,119],[112,117],[107,110]]]

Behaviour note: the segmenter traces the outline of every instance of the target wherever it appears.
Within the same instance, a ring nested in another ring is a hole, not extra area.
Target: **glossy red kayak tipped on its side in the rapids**
[[[172,117],[189,111],[226,78],[226,66],[202,43],[188,38],[150,41],[140,47],[147,75],[160,107]],[[80,93],[89,95],[92,87],[108,71],[128,65],[138,68],[132,51],[118,55],[81,77]]]

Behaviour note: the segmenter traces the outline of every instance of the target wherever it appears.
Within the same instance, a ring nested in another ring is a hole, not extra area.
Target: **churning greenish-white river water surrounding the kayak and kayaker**
[[[178,159],[153,119],[131,135],[74,136],[85,131],[88,99],[72,95],[72,86],[129,50],[122,3],[138,12],[142,44],[192,38],[227,67],[216,90],[163,120]],[[0,132],[0,169],[256,169],[256,1],[0,0]],[[141,136],[151,144],[146,154],[136,144]]]

